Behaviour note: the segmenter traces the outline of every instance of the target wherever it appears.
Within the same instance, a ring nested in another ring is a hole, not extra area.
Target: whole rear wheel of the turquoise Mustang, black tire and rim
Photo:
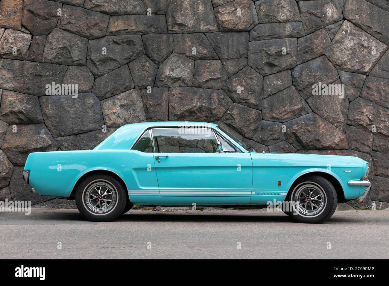
[[[93,188],[94,186],[96,188]],[[99,186],[103,186],[103,188],[100,187],[100,191],[101,195],[104,192],[107,194],[105,197],[96,197]],[[77,209],[84,218],[90,221],[112,221],[123,213],[127,205],[128,193],[126,189],[122,181],[109,174],[95,173],[88,175],[78,184],[75,192]],[[90,190],[94,193],[89,195],[89,198],[96,197],[92,201],[88,198]],[[111,199],[111,203],[108,201],[109,199]],[[99,201],[100,204],[97,203],[98,206],[93,207],[93,204]]]

